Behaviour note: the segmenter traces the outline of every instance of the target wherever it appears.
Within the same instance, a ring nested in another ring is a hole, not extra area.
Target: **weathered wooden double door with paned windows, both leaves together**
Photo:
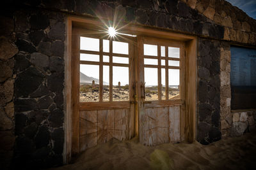
[[[72,31],[73,152],[83,152],[113,138],[123,141],[139,136],[140,142],[148,146],[184,140],[184,43],[143,36],[114,39],[84,32],[81,29]],[[99,50],[98,47],[96,50],[83,49],[81,38],[88,38],[89,42],[96,39]],[[108,41],[106,46],[105,41]],[[115,49],[118,42],[127,43],[119,49],[120,52]],[[82,59],[82,54],[89,58],[90,55],[99,56],[99,60]],[[104,56],[108,59],[104,60]],[[116,61],[118,57],[129,62]],[[96,71],[99,77],[94,79],[96,85],[81,82],[82,72],[92,72],[82,68],[91,65],[99,69]],[[108,69],[104,69],[106,66]],[[124,67],[126,72],[117,74],[118,67]],[[128,83],[118,85],[116,75],[120,80],[128,75]],[[109,81],[106,82],[104,77]]]

